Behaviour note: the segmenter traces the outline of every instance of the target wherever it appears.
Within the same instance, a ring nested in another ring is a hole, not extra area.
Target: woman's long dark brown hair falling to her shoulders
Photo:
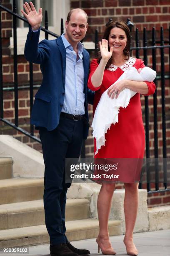
[[[127,57],[127,60],[128,60],[130,57],[130,29],[128,28],[126,23],[122,20],[111,21],[111,22],[107,23],[105,32],[103,35],[103,38],[105,38],[107,41],[109,41],[109,35],[110,35],[110,31],[112,28],[121,28],[123,31],[125,31],[126,36],[127,36],[127,43],[126,43],[125,49],[123,50],[123,54]],[[108,45],[108,50],[110,51],[109,45]],[[97,60],[98,64],[100,63],[101,59],[102,59],[102,57],[100,57]],[[112,57],[107,61],[105,69],[107,69],[111,63],[112,63]]]

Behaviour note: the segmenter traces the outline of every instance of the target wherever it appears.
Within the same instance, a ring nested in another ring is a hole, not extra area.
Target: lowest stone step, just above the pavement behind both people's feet
[[[66,235],[70,241],[96,238],[99,232],[98,220],[96,219],[67,221],[66,227]],[[109,233],[110,236],[121,234],[119,220],[109,221]],[[32,246],[41,243],[49,243],[45,225],[0,231],[0,248]]]

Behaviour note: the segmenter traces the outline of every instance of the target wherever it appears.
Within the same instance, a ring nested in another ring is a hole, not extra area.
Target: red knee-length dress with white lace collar
[[[88,87],[92,91],[95,91],[93,115],[102,93],[116,82],[126,69],[132,66],[136,69],[145,67],[141,59],[130,57],[121,67],[111,65],[108,69],[105,69],[102,84],[99,87],[94,87],[91,77],[98,67],[98,63],[97,59],[91,61]],[[153,94],[156,88],[155,84],[153,82],[146,82],[146,84],[149,90],[147,95]],[[120,108],[118,123],[111,125],[110,130],[107,130],[105,134],[105,139],[105,146],[99,149],[95,158],[143,159],[145,151],[145,130],[139,93],[136,93],[130,99],[127,108]],[[96,143],[94,151],[96,151]]]

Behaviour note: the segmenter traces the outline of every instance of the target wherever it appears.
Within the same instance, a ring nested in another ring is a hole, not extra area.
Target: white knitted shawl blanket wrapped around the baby
[[[119,79],[117,79],[115,83],[120,82],[123,79],[152,82],[155,77],[156,72],[149,67],[144,67],[140,74],[135,67],[130,67],[130,69],[125,70],[125,72],[119,77]],[[136,92],[125,88],[122,90],[122,92],[120,92],[117,99],[112,99],[107,95],[107,90],[103,92],[100,98],[92,121],[92,135],[96,138],[95,155],[98,153],[101,146],[105,145],[105,133],[107,133],[107,129],[110,129],[112,123],[115,124],[118,122],[118,113],[120,107],[126,108],[129,104],[130,98],[136,94]]]

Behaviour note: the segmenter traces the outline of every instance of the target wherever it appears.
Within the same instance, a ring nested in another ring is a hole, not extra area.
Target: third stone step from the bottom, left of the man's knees
[[[44,179],[0,180],[0,205],[43,198]]]

